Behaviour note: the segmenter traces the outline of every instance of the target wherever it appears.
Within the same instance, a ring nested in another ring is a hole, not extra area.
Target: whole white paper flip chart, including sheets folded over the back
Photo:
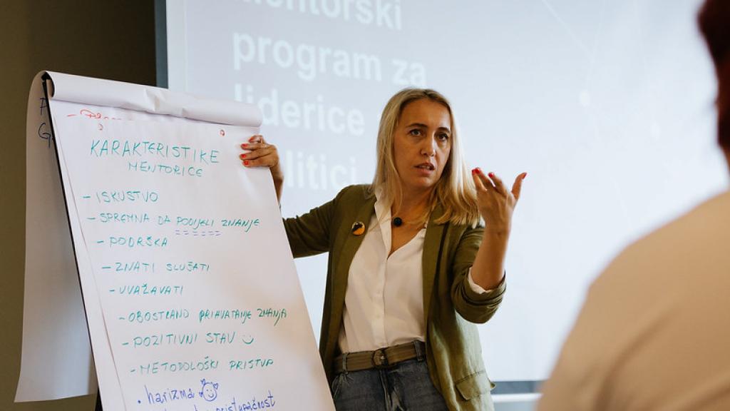
[[[42,245],[61,264],[57,279],[42,272],[57,262],[26,266],[26,314],[70,321],[53,339],[78,358],[59,362],[26,318],[16,400],[92,391],[91,336],[104,410],[333,409],[270,173],[238,158],[258,110],[50,77],[55,94],[35,108],[48,134],[28,133],[28,197],[45,178],[50,201],[28,217],[55,208],[60,244]],[[31,178],[39,160],[52,165]],[[39,295],[47,282],[64,298]]]

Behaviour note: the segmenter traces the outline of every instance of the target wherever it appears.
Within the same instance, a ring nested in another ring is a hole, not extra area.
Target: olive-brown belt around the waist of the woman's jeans
[[[345,352],[334,358],[334,374],[361,371],[364,369],[386,369],[401,361],[426,357],[426,344],[415,340],[393,347],[379,348],[374,351]]]

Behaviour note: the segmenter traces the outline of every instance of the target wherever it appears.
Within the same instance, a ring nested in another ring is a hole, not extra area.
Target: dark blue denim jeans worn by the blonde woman
[[[337,411],[448,411],[425,359],[342,372],[332,380],[331,391]]]

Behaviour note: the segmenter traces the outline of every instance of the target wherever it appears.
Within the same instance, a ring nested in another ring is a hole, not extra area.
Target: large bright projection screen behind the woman
[[[510,184],[529,173],[507,295],[480,326],[504,387],[548,377],[615,254],[726,186],[699,4],[168,0],[167,75],[173,90],[263,110],[285,170],[283,216],[372,180],[395,91],[445,94],[469,167]],[[318,336],[326,256],[296,264]]]

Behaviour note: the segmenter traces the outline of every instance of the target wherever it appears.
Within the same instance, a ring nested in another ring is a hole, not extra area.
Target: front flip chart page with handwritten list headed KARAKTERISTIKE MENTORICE
[[[256,130],[54,104],[118,409],[332,409],[271,176],[238,159]]]

